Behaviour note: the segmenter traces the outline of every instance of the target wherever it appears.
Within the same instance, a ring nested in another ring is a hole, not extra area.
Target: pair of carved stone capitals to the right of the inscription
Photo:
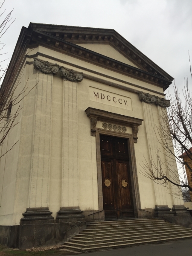
[[[139,99],[141,102],[145,102],[148,104],[154,103],[157,106],[160,106],[162,108],[169,108],[170,107],[170,100],[160,98],[159,96],[150,95],[149,93],[139,93]]]

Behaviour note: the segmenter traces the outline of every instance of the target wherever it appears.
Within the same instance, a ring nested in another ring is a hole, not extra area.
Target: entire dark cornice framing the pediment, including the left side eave
[[[141,69],[77,45],[85,42],[91,44],[111,44],[125,57],[131,59],[137,66],[140,66]],[[162,87],[163,90],[166,90],[173,80],[164,70],[154,64],[113,29],[92,29],[30,23],[28,28],[23,27],[20,32],[9,66],[14,67],[16,70],[20,60],[24,57],[26,49],[34,48],[38,45],[80,58],[117,73],[155,84]],[[6,73],[3,84],[4,82],[6,84],[11,82],[10,72],[8,70]],[[13,77],[14,72],[11,73],[11,77]]]

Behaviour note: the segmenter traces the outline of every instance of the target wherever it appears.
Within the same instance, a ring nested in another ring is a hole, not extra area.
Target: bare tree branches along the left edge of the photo
[[[5,34],[5,32],[7,31],[7,29],[9,29],[9,27],[12,25],[12,23],[15,20],[12,20],[12,12],[9,12],[8,15],[6,15],[6,9],[3,9],[3,4],[5,3],[5,0],[3,1],[3,3],[0,3],[0,19],[2,19],[2,21],[0,21],[0,38],[2,38],[2,36]],[[3,52],[5,44],[0,43],[2,45],[2,47],[0,47],[0,82],[2,82],[4,76],[6,75],[6,72],[8,69],[14,69],[16,67],[16,65],[14,67],[3,67],[2,63],[4,61],[6,61],[6,58],[3,58],[4,55],[6,53]],[[19,63],[19,60],[18,60]],[[13,84],[13,86],[8,86],[8,84],[5,84],[4,86],[2,85],[0,87],[0,148],[2,147],[7,135],[9,134],[9,131],[15,127],[15,125],[17,125],[17,116],[19,115],[19,112],[21,110],[20,108],[20,102],[21,100],[36,86],[32,87],[31,90],[28,90],[27,88],[27,81],[26,84],[23,86],[23,88],[21,88],[20,90],[17,90],[17,88],[19,87],[20,83],[22,82],[22,71],[17,79],[17,81],[15,82],[15,84]],[[14,107],[15,106],[15,107]],[[15,108],[15,111],[12,111],[13,107]],[[17,142],[16,142],[17,143]],[[15,144],[16,144],[15,143]],[[14,144],[14,145],[15,145]],[[8,151],[10,151],[13,146],[11,146],[11,148],[8,148],[7,151],[5,151],[0,157],[3,157]]]

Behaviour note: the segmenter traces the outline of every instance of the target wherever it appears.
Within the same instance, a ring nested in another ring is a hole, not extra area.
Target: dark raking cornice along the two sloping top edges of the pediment
[[[126,58],[136,64],[137,67],[173,80],[168,73],[157,66],[157,64],[146,57],[114,29],[59,26],[39,23],[30,23],[29,27],[46,32],[49,35],[54,35],[57,38],[62,38],[73,44],[110,44],[122,55],[125,55]]]

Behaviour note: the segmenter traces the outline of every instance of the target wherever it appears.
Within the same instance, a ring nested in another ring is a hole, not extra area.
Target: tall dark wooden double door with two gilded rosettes
[[[105,220],[134,218],[128,140],[100,135]]]

